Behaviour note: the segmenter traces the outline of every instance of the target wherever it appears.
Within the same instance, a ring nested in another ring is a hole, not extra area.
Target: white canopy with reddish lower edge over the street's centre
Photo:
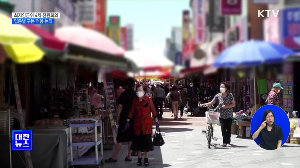
[[[138,67],[144,71],[155,71],[171,69],[174,64],[164,54],[163,51],[143,49],[125,52],[125,57],[131,59]]]

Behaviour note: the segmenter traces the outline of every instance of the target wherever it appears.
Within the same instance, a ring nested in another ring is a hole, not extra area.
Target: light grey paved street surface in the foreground
[[[261,149],[249,138],[231,136],[228,147],[222,147],[221,127],[216,126],[214,135],[219,138],[213,141],[208,149],[202,130],[205,129],[204,117],[186,117],[173,120],[164,113],[161,120],[161,131],[165,132],[165,144],[155,147],[150,153],[150,168],[203,168],[203,167],[300,167],[300,145],[288,144],[275,151]],[[113,151],[104,151],[107,159]],[[117,163],[104,163],[102,168],[131,168],[136,166],[137,156],[132,163],[124,161],[127,156],[127,145],[123,145]]]

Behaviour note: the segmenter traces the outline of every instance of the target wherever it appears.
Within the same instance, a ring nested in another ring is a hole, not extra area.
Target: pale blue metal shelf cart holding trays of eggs
[[[85,124],[73,124],[72,121],[82,121],[82,120],[92,120],[94,123],[85,123]],[[102,146],[102,120],[98,123],[93,118],[80,118],[80,119],[70,119],[69,120],[69,141],[71,146],[71,166],[74,168],[74,165],[96,165],[100,168],[99,164],[103,165],[103,146]],[[95,142],[76,142],[72,143],[72,127],[95,127]],[[100,126],[101,139],[97,137],[97,127]],[[101,155],[98,155],[98,145],[101,144]],[[95,146],[95,156],[81,156],[73,160],[73,151],[72,146]]]

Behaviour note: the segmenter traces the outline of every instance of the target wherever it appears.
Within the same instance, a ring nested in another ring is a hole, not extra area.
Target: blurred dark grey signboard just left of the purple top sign
[[[225,17],[221,15],[221,1],[209,2],[209,18],[207,20],[210,32],[224,32]]]

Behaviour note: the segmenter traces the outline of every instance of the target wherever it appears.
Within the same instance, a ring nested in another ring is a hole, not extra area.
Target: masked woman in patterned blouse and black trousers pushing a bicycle
[[[221,82],[220,92],[218,93],[211,102],[200,104],[200,107],[204,105],[212,106],[217,103],[218,106],[222,107],[219,109],[220,113],[220,122],[221,122],[221,131],[223,136],[223,145],[231,143],[231,123],[233,119],[233,108],[235,107],[235,98],[232,93],[227,92],[228,84],[226,82]]]

